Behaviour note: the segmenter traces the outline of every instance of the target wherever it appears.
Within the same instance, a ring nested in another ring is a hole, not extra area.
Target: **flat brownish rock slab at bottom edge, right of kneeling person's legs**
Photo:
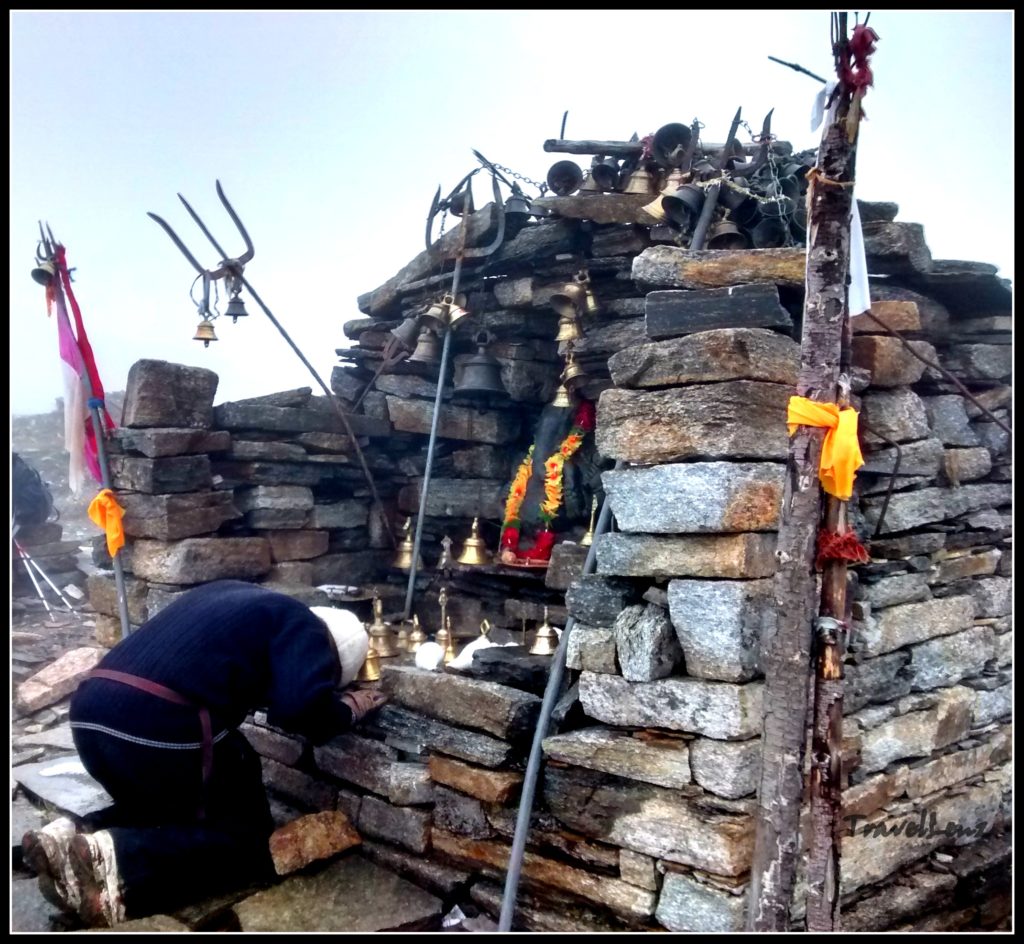
[[[243,931],[439,931],[441,901],[361,856],[293,875],[234,906]]]

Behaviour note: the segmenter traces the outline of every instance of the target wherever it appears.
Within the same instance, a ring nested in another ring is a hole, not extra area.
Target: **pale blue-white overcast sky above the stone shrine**
[[[851,14],[851,22],[852,22]],[[856,195],[899,204],[937,259],[1013,277],[1011,11],[876,10]],[[10,15],[10,349],[14,414],[62,394],[55,326],[30,277],[37,220],[76,268],[108,390],[143,357],[208,367],[217,401],[315,386],[258,307],[191,340],[194,271],[218,257],[181,192],[329,382],[356,298],[423,247],[430,199],[477,167],[472,149],[532,180],[563,112],[570,138],[626,140],[670,122],[722,140],[737,105],[755,130],[813,147],[831,75],[829,11],[470,10],[104,12]],[[745,138],[744,138],[745,139]],[[589,158],[578,158],[582,165]],[[477,203],[489,199],[483,175]],[[525,186],[528,195],[536,189]],[[507,192],[507,191],[506,191]]]

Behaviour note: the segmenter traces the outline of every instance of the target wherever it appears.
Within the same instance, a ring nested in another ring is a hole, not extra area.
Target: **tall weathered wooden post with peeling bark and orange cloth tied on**
[[[847,328],[850,215],[860,99],[870,84],[867,55],[873,33],[863,27],[847,38],[845,13],[833,14],[833,51],[839,84],[833,93],[810,172],[804,330],[797,394],[835,404]],[[874,37],[877,38],[877,37]],[[852,58],[851,58],[852,56]],[[843,402],[842,395],[839,396]],[[817,632],[819,685],[813,740],[812,840],[808,873],[808,928],[838,930],[842,644],[846,616],[846,564],[824,575],[822,608],[816,597],[819,528],[842,534],[845,501],[829,498],[822,522],[818,472],[824,430],[802,423],[790,439],[788,474],[779,524],[775,575],[777,623],[762,640],[765,707],[757,836],[746,928],[786,931],[801,852],[804,749],[811,684],[812,628]]]

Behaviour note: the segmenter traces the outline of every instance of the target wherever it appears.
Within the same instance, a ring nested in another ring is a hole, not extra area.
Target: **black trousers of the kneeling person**
[[[114,839],[129,918],[272,878],[273,821],[259,757],[241,733],[214,745],[205,795],[199,749],[152,747],[80,728],[74,734],[83,766],[114,799],[85,826]]]

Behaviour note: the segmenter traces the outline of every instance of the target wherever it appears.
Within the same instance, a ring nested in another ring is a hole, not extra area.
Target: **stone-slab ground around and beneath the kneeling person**
[[[83,566],[87,566],[83,563]],[[17,685],[65,652],[95,645],[87,604],[75,614],[48,594],[50,617],[38,596],[11,604],[11,673]],[[39,892],[22,860],[22,836],[60,815],[72,818],[104,807],[109,798],[81,769],[68,725],[65,697],[31,715],[11,716],[12,932],[74,932],[83,926]],[[275,806],[284,825],[299,811]],[[123,931],[381,932],[485,931],[485,915],[464,916],[451,905],[371,862],[356,846],[294,872],[270,887],[197,902],[173,915],[119,926]]]

